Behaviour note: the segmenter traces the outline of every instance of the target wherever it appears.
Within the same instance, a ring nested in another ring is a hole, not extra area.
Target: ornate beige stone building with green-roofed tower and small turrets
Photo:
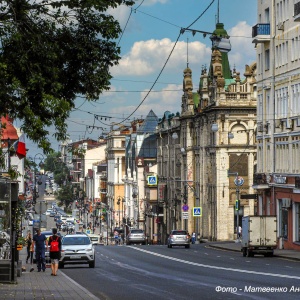
[[[164,191],[167,230],[180,226],[199,238],[230,240],[242,216],[254,214],[256,207],[254,199],[236,206],[236,197],[253,193],[256,64],[246,65],[242,79],[230,70],[229,47],[223,43],[229,36],[222,23],[211,39],[210,67],[202,70],[199,90],[193,92],[187,66],[181,114],[168,113],[159,124],[158,175],[165,181],[159,191]]]

